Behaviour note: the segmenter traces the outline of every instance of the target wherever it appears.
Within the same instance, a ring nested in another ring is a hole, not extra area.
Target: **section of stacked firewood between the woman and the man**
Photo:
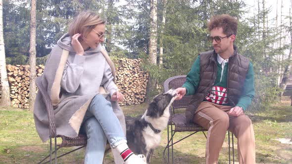
[[[145,101],[148,73],[142,70],[141,59],[122,58],[118,61],[117,85],[125,96],[120,105],[138,105]]]

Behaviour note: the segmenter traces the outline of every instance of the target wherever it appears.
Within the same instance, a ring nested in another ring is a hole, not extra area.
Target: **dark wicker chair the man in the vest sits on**
[[[168,91],[170,88],[178,88],[181,87],[184,82],[186,82],[186,75],[181,75],[181,76],[175,76],[175,77],[171,77],[169,79],[167,79],[164,84],[164,92]],[[168,124],[171,126],[169,129],[169,126],[167,126],[167,140],[168,143],[163,151],[163,157],[165,159],[165,151],[167,149],[167,154],[168,154],[168,158],[167,158],[167,163],[169,164],[169,147],[171,147],[171,157],[172,157],[172,164],[174,163],[174,159],[173,159],[173,145],[182,141],[183,139],[197,133],[197,132],[202,132],[204,134],[204,136],[206,137],[206,134],[204,133],[204,131],[207,131],[207,129],[203,128],[202,126],[195,124],[195,123],[188,123],[187,124],[187,119],[185,114],[175,114],[175,109],[179,109],[179,108],[187,108],[190,101],[191,101],[192,95],[186,95],[184,96],[181,100],[176,100],[173,102],[171,108],[169,108],[170,110],[170,119]],[[175,128],[173,129],[173,125],[175,126]],[[176,132],[184,132],[184,131],[191,131],[193,133],[181,138],[178,141],[173,142],[173,136]],[[169,132],[171,132],[171,137],[169,138]],[[207,137],[206,137],[207,138]],[[228,131],[228,144],[229,144],[229,164],[231,163],[231,158],[230,158],[230,133]],[[234,164],[234,144],[233,144],[233,134],[232,134],[232,154],[233,154],[233,164]]]

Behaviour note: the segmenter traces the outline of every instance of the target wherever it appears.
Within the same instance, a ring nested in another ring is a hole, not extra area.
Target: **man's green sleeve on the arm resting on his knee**
[[[252,63],[249,62],[249,67],[247,74],[245,76],[245,81],[243,84],[243,94],[239,98],[236,106],[242,107],[245,111],[247,107],[251,104],[251,100],[254,97],[254,73]]]

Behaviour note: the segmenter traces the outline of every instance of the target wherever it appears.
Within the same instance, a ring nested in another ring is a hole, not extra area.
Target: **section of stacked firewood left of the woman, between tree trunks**
[[[36,67],[37,76],[41,76],[43,65]],[[7,76],[10,86],[11,105],[18,108],[28,108],[29,98],[29,65],[7,65]]]

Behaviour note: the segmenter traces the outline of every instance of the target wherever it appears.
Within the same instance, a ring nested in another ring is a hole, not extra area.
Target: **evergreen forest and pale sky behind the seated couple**
[[[31,0],[3,0],[6,64],[29,63],[31,4]],[[291,74],[291,9],[291,0],[273,4],[267,0],[39,0],[34,60],[45,65],[72,18],[92,10],[106,21],[103,46],[111,58],[144,59],[151,97],[162,91],[167,78],[186,75],[199,52],[212,49],[207,41],[209,18],[230,14],[239,23],[235,44],[254,66],[256,96],[251,109],[261,110],[279,100]]]

